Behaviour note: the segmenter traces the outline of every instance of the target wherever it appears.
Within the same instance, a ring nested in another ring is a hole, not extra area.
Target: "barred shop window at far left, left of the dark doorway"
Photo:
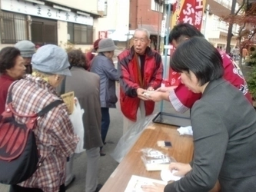
[[[0,28],[2,44],[15,44],[28,39],[25,15],[11,12],[0,12]]]

